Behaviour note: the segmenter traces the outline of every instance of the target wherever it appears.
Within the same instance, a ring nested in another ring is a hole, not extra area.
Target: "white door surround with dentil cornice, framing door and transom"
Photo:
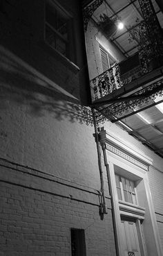
[[[124,256],[122,218],[128,218],[136,223],[141,255],[162,256],[160,235],[148,184],[148,168],[153,164],[153,160],[110,130],[100,128],[99,139],[113,205],[117,255]],[[115,174],[135,182],[137,205],[127,203],[123,198],[119,200]]]

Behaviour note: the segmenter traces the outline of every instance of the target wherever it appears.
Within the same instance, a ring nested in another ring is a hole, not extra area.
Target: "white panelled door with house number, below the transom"
[[[121,230],[124,255],[141,256],[135,221],[129,219],[122,219]]]

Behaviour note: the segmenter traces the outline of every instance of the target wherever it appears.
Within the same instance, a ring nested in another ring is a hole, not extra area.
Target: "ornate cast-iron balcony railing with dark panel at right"
[[[156,67],[160,67],[162,65],[160,60],[161,58],[151,60],[140,58],[140,54],[136,53],[131,58],[116,63],[110,69],[90,80],[93,101],[111,94],[116,89],[131,83],[144,74],[148,74]]]

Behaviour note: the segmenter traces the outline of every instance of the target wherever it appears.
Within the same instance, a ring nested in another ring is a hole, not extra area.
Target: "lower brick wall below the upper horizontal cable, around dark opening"
[[[115,255],[110,198],[99,217],[97,191],[1,161],[1,255],[70,255],[70,228],[86,234],[87,255]]]

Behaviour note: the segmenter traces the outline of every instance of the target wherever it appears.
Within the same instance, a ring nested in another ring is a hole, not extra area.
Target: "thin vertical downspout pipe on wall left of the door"
[[[103,178],[103,171],[102,171],[102,154],[101,154],[101,146],[100,146],[100,142],[99,142],[99,133],[98,133],[98,130],[97,130],[97,123],[96,123],[96,119],[95,119],[95,108],[91,108],[91,110],[92,110],[92,113],[93,113],[93,124],[94,124],[94,128],[95,128],[95,142],[96,142],[96,146],[97,146],[99,176],[100,176],[100,183],[101,183],[100,214],[107,214],[106,200],[105,200],[105,193],[104,193],[104,178]]]

